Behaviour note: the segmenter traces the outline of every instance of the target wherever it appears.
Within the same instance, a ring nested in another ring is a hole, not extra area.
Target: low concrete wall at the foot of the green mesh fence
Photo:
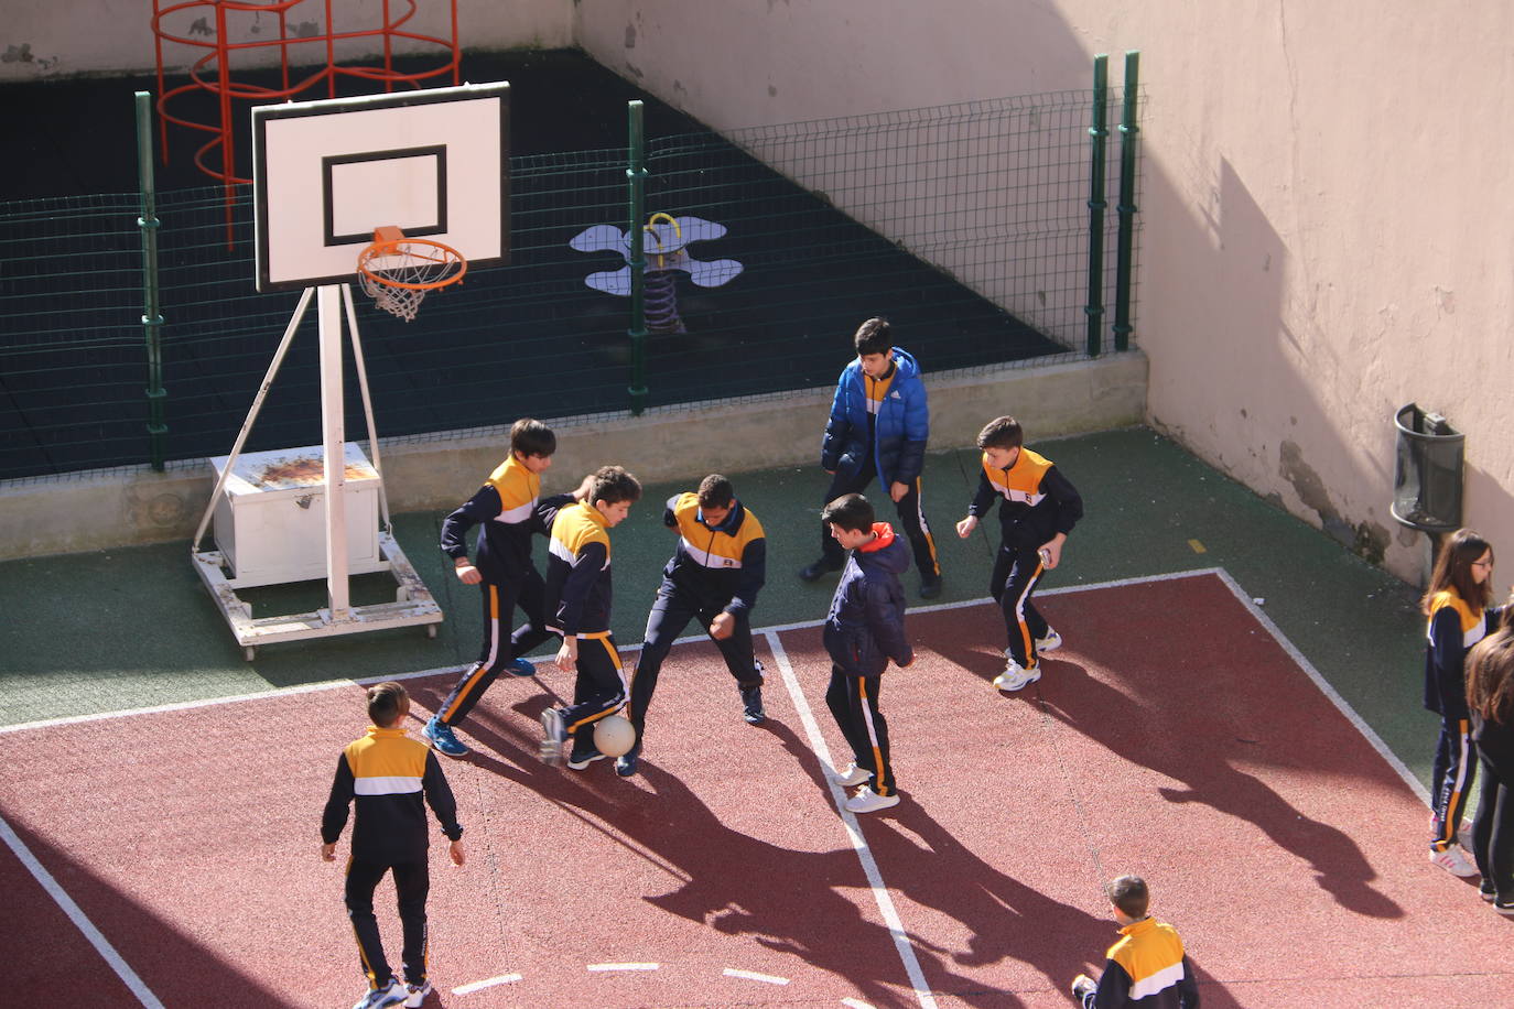
[[[1146,359],[1139,352],[977,377],[930,378],[931,445],[972,445],[984,421],[1013,408],[1030,436],[1045,439],[1139,424]],[[696,480],[707,472],[819,464],[831,390],[780,393],[746,402],[610,414],[557,425],[559,473],[621,463],[645,481]],[[712,439],[710,431],[721,437]],[[319,431],[312,431],[319,442]],[[392,511],[454,508],[500,464],[507,431],[380,440]],[[297,446],[289,446],[297,448]],[[209,463],[74,473],[0,484],[0,560],[186,540],[215,487]],[[88,516],[88,520],[80,520]]]

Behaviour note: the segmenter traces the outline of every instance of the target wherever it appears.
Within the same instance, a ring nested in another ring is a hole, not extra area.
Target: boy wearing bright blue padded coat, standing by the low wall
[[[877,477],[910,539],[914,567],[921,572],[921,598],[934,599],[942,593],[942,569],[921,507],[921,469],[931,433],[921,366],[908,351],[893,345],[887,319],[863,322],[852,343],[857,360],[842,369],[836,383],[821,443],[821,467],[831,473],[824,499],[860,493]],[[827,572],[840,570],[842,560],[842,548],[822,526],[821,558],[801,570],[799,578],[818,581]]]

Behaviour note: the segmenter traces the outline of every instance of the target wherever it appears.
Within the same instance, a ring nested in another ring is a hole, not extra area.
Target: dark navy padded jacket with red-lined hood
[[[904,635],[904,588],[899,572],[910,566],[910,549],[887,522],[874,522],[878,534],[851,552],[825,617],[825,650],[852,676],[878,676],[892,658],[899,666],[914,660]]]

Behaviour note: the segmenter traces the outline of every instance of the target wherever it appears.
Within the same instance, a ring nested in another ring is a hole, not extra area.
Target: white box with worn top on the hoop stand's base
[[[210,460],[217,477],[227,455]],[[388,570],[378,554],[378,473],[363,451],[345,446],[350,573]],[[326,578],[326,466],[321,446],[236,457],[215,504],[215,545],[233,587]]]

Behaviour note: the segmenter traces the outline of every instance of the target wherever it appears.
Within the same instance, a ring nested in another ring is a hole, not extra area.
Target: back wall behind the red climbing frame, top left
[[[176,6],[160,0],[159,8]],[[394,5],[398,9],[401,5]],[[457,0],[457,35],[463,48],[513,48],[540,45],[547,48],[572,45],[572,0]],[[374,27],[380,20],[380,0],[336,0],[333,5],[338,32]],[[120,3],[118,0],[64,0],[62,3],[9,3],[0,18],[0,83],[67,77],[73,74],[127,74],[153,70],[156,64],[151,29],[153,5]],[[318,0],[304,0],[289,9],[286,35],[307,38],[326,30],[326,9]],[[416,0],[415,17],[406,30],[435,38],[451,35],[451,8],[442,0]],[[215,9],[204,3],[179,11],[164,20],[164,29],[198,45],[213,44]],[[227,14],[227,38],[232,42],[259,42],[279,38],[277,21],[271,15]],[[206,54],[206,48],[168,44],[164,62],[183,70]],[[339,50],[339,59],[378,51],[363,41]],[[400,53],[438,51],[400,39]],[[291,59],[303,64],[326,61],[324,45],[291,47]],[[233,59],[233,67],[277,64],[279,53],[245,50]]]

